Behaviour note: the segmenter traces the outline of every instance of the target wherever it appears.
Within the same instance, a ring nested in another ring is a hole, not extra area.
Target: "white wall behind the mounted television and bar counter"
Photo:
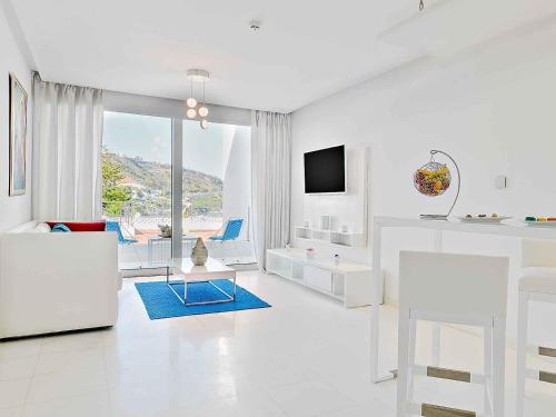
[[[415,169],[436,148],[460,165],[456,215],[556,216],[555,39],[556,26],[520,31],[450,58],[414,62],[296,111],[292,226],[302,222],[308,198],[302,152],[360,142],[371,147],[374,215],[416,216],[449,206],[453,195],[433,200],[413,186]],[[508,176],[505,190],[494,187],[500,173]],[[431,249],[433,237],[403,230],[387,231],[384,239],[387,298],[393,299],[398,250]],[[516,239],[448,234],[445,244],[454,251],[509,254],[515,311]],[[348,255],[370,261],[370,249]]]

